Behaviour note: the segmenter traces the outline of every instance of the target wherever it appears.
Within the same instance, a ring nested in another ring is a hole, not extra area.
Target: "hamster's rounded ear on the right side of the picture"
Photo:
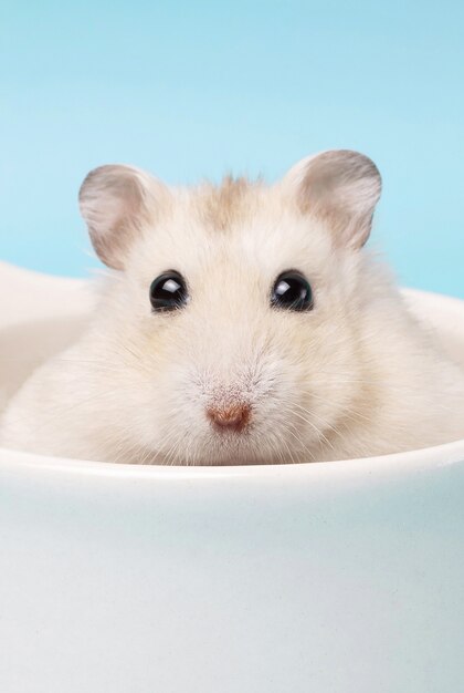
[[[381,192],[373,162],[349,149],[323,152],[296,164],[284,178],[304,214],[327,221],[339,246],[360,248],[370,235]]]

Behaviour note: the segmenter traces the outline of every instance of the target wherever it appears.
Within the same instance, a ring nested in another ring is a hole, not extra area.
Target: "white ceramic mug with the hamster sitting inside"
[[[2,286],[9,396],[92,298],[8,266]],[[408,298],[464,363],[464,302]],[[464,441],[211,468],[0,449],[0,690],[458,693],[463,539]]]

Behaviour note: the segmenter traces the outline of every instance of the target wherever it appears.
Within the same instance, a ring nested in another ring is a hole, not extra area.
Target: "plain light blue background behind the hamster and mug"
[[[169,183],[282,175],[355,148],[403,283],[464,297],[464,3],[0,4],[0,258],[84,276],[76,194],[99,164]]]

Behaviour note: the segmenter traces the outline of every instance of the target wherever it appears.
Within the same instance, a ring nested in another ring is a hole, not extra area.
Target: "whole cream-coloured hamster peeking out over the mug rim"
[[[87,332],[3,415],[3,446],[136,464],[398,453],[464,437],[464,373],[365,249],[381,190],[362,154],[274,185],[173,189],[130,166],[85,178],[109,268]]]

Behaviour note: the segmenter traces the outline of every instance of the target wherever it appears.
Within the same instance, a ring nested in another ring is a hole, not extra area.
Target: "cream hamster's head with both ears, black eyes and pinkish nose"
[[[88,174],[82,215],[114,270],[94,330],[107,368],[92,377],[120,449],[161,464],[317,459],[361,396],[360,249],[379,195],[376,166],[348,151],[272,186]]]

